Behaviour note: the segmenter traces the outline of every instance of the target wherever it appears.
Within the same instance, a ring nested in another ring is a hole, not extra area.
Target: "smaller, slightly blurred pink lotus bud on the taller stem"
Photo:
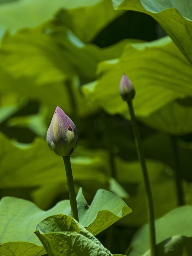
[[[135,97],[135,89],[129,78],[123,74],[120,82],[120,94],[123,100],[133,100]]]

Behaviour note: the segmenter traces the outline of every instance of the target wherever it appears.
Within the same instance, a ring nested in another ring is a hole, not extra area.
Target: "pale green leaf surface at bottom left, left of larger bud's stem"
[[[45,212],[29,201],[4,197],[0,200],[1,243],[22,241],[41,246],[41,242],[33,233],[37,223],[48,216],[63,214],[69,210],[69,200],[59,202]]]

